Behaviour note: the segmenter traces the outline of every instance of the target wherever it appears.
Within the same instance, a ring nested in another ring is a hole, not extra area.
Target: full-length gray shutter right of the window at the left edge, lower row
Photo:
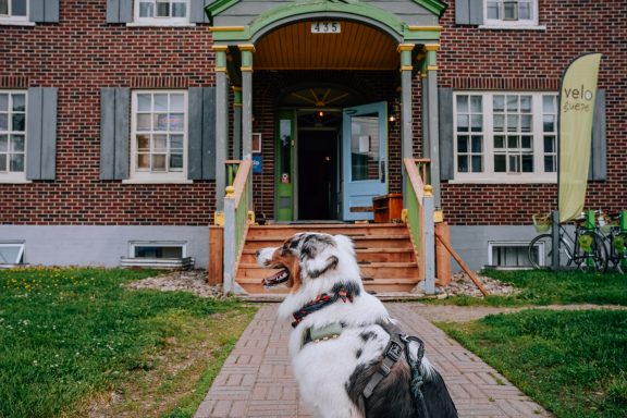
[[[54,180],[57,171],[57,87],[28,88],[26,179]]]

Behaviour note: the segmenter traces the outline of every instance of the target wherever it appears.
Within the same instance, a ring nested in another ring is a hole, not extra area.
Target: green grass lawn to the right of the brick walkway
[[[489,271],[515,296],[458,297],[457,305],[627,306],[627,276]],[[627,417],[627,310],[524,310],[467,323],[439,323],[558,418]]]

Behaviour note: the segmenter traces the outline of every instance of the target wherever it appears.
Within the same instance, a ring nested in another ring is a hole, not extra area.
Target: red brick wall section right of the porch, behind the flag
[[[557,91],[562,72],[583,52],[601,52],[599,88],[606,91],[607,181],[590,182],[586,207],[627,207],[627,8],[622,1],[539,0],[545,30],[478,29],[455,25],[450,1],[438,52],[440,86],[458,89]],[[530,224],[556,209],[556,185],[444,184],[452,224]]]

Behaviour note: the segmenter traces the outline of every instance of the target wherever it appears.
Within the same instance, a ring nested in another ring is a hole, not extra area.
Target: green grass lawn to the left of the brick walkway
[[[85,416],[95,405],[192,416],[255,309],[123,286],[155,273],[0,270],[0,417]],[[199,348],[208,354],[195,358]],[[111,392],[130,396],[111,406]]]

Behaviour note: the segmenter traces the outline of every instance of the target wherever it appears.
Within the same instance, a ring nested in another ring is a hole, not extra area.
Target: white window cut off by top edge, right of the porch
[[[537,0],[487,0],[485,25],[533,26],[538,25]]]

